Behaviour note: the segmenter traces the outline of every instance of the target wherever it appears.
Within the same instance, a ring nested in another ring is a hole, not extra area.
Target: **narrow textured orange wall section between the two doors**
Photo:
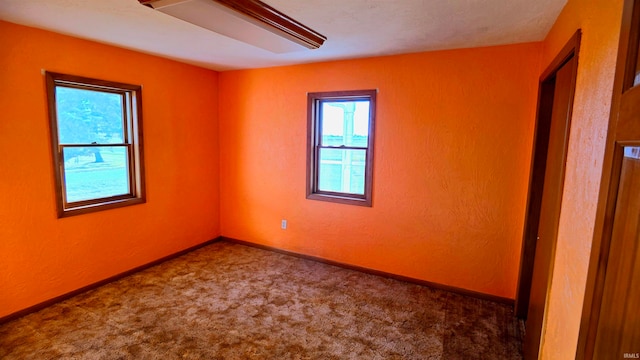
[[[578,79],[542,358],[575,358],[618,51],[622,0],[569,0],[543,67],[582,28]]]

